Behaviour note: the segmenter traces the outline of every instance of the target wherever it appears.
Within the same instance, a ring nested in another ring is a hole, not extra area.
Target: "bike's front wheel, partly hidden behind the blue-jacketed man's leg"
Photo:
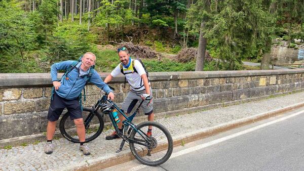
[[[86,120],[86,117],[92,112],[92,109],[89,108],[83,108],[83,118],[84,121]],[[93,124],[92,124],[93,123]],[[104,128],[104,120],[102,115],[99,112],[95,112],[93,119],[91,120],[91,122],[89,123],[90,126],[88,127],[88,129],[86,129],[86,141],[90,142],[94,139],[96,139],[101,132],[103,131]],[[79,143],[79,137],[77,135],[76,132],[76,128],[74,125],[73,120],[69,119],[69,113],[66,112],[59,123],[59,128],[60,128],[60,133],[62,134],[62,136],[67,139],[68,141],[71,141],[73,143]]]

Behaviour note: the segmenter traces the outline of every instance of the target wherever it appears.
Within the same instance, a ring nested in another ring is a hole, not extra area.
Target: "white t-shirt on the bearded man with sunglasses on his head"
[[[129,68],[125,68],[123,66],[123,69],[124,69],[124,73],[125,73],[125,76],[126,76],[126,79],[128,80],[130,86],[131,86],[131,89],[134,90],[134,91],[142,91],[144,90],[144,86],[143,86],[143,81],[141,80],[141,75],[142,74],[145,74],[146,72],[144,71],[144,68],[143,66],[141,65],[141,63],[138,61],[138,60],[134,60],[134,67],[135,69],[137,70],[138,73],[134,72],[133,71],[133,67],[132,67],[132,61],[134,59],[131,58],[131,64],[129,66]],[[112,77],[116,77],[118,76],[120,73],[121,73],[121,68],[120,68],[120,65],[122,64],[119,64],[112,72],[111,72],[111,76]],[[133,73],[132,73],[133,72]],[[126,74],[127,73],[127,74]],[[150,82],[149,82],[150,84]],[[141,87],[141,88],[140,88]],[[136,88],[140,88],[140,89],[136,89]]]

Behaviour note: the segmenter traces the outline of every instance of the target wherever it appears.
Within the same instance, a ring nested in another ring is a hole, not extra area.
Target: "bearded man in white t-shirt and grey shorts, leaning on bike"
[[[131,90],[124,100],[122,109],[128,115],[135,104],[141,100],[145,100],[147,97],[152,98],[152,89],[148,80],[148,73],[144,68],[143,63],[139,59],[132,59],[127,48],[122,47],[118,49],[118,56],[121,63],[104,79],[104,82],[109,82],[113,77],[118,76],[120,73],[126,76],[128,83],[131,86]],[[148,115],[148,121],[154,120],[153,112],[153,99],[150,101],[145,100],[141,107],[145,115]],[[125,119],[121,114],[119,115],[121,122],[118,123],[118,128],[122,131],[122,121]],[[152,127],[148,127],[147,135],[152,135]],[[119,138],[116,132],[106,136],[106,140],[112,140]]]

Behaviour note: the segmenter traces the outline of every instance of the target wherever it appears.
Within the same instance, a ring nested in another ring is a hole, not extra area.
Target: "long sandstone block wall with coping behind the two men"
[[[108,73],[100,73],[104,78]],[[60,76],[60,74],[59,74]],[[149,73],[155,113],[256,99],[304,88],[304,70],[255,70]],[[46,131],[51,97],[49,73],[0,74],[0,140]],[[124,76],[111,86],[121,104],[130,87]],[[92,106],[101,97],[96,86],[87,87]],[[142,115],[140,113],[139,115]],[[138,115],[138,116],[139,116]]]

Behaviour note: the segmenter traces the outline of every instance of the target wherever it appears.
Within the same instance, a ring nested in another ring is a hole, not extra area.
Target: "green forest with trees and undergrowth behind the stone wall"
[[[49,72],[85,52],[110,72],[126,44],[157,54],[138,56],[152,72],[268,69],[275,40],[304,41],[303,20],[304,0],[2,0],[0,73]]]

